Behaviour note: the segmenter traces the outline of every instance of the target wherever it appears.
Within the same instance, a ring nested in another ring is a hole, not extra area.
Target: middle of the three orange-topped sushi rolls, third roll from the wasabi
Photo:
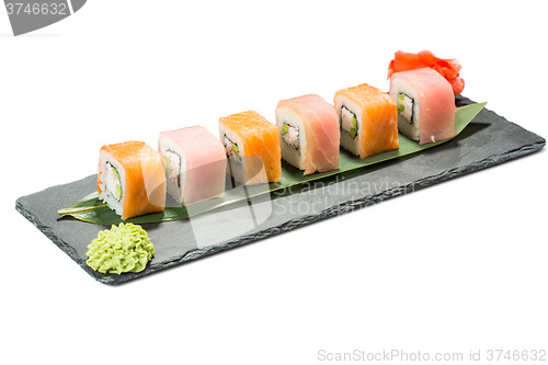
[[[219,119],[220,140],[228,159],[227,171],[239,183],[279,182],[282,156],[274,124],[248,111]]]

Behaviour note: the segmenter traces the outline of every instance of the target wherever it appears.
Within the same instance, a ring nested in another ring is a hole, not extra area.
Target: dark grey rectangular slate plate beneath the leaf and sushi
[[[472,102],[457,96],[456,103]],[[142,272],[123,275],[101,274],[85,264],[87,246],[110,227],[57,215],[92,192],[96,175],[22,196],[15,208],[96,281],[118,284],[529,155],[545,145],[543,137],[484,109],[456,138],[436,148],[192,219],[142,225],[156,256]]]

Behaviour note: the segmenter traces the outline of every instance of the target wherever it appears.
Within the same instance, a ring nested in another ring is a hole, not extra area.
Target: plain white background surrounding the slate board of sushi
[[[279,99],[304,93],[387,90],[398,49],[458,58],[466,96],[547,137],[547,10],[90,0],[20,37],[0,10],[0,363],[548,350],[546,149],[118,287],[95,282],[14,209],[22,195],[94,173],[103,144],[216,132],[220,116],[250,109],[274,121]]]

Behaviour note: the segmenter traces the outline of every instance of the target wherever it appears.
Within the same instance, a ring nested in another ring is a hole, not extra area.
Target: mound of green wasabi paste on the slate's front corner
[[[94,271],[106,273],[138,273],[155,255],[155,247],[142,227],[119,224],[99,232],[88,244],[85,263]]]

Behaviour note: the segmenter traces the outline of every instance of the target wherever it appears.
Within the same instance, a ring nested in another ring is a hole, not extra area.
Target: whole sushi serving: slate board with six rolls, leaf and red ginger
[[[316,94],[282,100],[276,123],[253,111],[221,117],[218,138],[192,126],[161,132],[158,150],[103,146],[96,175],[21,197],[16,209],[95,280],[118,284],[545,146],[463,98],[459,69],[399,52],[388,93],[362,83],[336,91],[334,105]],[[95,254],[91,267],[88,246],[118,223],[144,225],[150,262],[121,270],[119,259]]]

